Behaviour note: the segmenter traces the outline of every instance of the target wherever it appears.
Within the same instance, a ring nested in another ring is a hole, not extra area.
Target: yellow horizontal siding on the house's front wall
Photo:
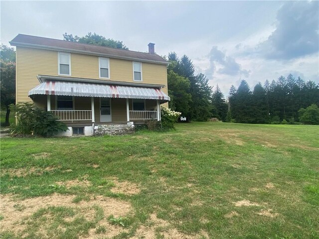
[[[58,51],[16,47],[16,62],[17,103],[31,101],[28,92],[40,84],[37,75],[59,76]],[[99,57],[71,53],[71,73],[68,77],[99,79]],[[133,62],[110,58],[110,79],[102,80],[164,85],[162,91],[167,94],[165,65],[143,62],[142,75],[143,82],[134,82]],[[39,106],[46,108],[46,98],[36,96],[34,100]],[[163,106],[167,106],[167,103]]]

